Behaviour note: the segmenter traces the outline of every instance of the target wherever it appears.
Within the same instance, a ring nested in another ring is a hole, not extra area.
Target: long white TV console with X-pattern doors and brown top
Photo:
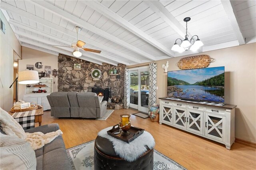
[[[213,106],[199,102],[160,99],[162,123],[226,145],[230,150],[235,141],[235,107]]]

